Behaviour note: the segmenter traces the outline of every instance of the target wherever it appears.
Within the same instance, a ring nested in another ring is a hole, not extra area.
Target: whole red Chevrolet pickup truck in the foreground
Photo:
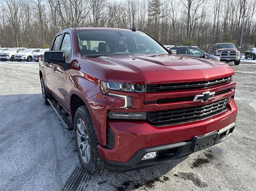
[[[90,174],[171,161],[222,142],[235,127],[229,65],[171,54],[134,28],[63,30],[39,65],[44,103],[74,129]]]

